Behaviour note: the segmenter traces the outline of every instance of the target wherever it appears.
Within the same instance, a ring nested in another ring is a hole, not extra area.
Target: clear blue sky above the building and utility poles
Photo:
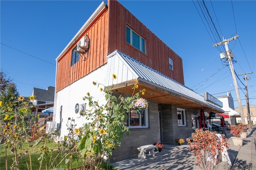
[[[101,2],[0,1],[0,67],[21,96],[30,96],[33,87],[55,86],[56,57]],[[182,57],[185,86],[215,97],[231,92],[235,106],[230,69],[219,57],[224,48],[213,44],[222,36],[229,39],[238,34],[239,38],[228,44],[236,61],[234,70],[237,74],[253,72],[247,75],[247,83],[249,102],[256,104],[256,1],[204,1],[216,29],[202,14],[201,9],[207,13],[202,1],[119,2]],[[245,105],[244,76],[238,77]]]

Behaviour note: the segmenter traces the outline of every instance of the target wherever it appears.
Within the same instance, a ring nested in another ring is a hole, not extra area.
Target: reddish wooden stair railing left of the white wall
[[[40,125],[40,123],[46,121],[47,119],[49,119],[51,117],[53,117],[53,114],[31,126],[32,132],[31,132],[31,137],[30,137],[29,141],[35,141],[36,139],[38,139],[39,137],[41,137],[42,135],[45,134],[46,129],[44,127],[46,127],[46,123],[44,123],[43,125]],[[38,125],[40,125],[40,126],[38,126]],[[38,130],[40,130],[40,131],[38,132],[38,135],[36,135]]]

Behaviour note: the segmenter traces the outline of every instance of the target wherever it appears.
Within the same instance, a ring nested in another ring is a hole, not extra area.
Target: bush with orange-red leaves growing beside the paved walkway
[[[204,131],[203,129],[196,129],[191,137],[186,139],[188,142],[188,149],[192,150],[193,155],[197,158],[196,165],[202,170],[218,170],[218,162],[221,160],[221,151],[224,147],[228,148],[228,139],[222,135],[222,139],[216,136],[216,132]]]

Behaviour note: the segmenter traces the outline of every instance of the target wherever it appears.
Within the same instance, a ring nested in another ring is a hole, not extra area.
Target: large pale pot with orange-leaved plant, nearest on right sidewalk
[[[243,146],[243,138],[241,138],[242,134],[242,125],[228,125],[228,129],[230,129],[230,133],[233,134],[234,137],[231,137],[233,144],[235,146],[242,147]]]

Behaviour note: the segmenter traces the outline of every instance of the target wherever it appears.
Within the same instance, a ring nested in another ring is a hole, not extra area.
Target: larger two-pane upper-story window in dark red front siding
[[[129,27],[126,27],[126,42],[142,51],[142,53],[146,53],[145,39]]]

